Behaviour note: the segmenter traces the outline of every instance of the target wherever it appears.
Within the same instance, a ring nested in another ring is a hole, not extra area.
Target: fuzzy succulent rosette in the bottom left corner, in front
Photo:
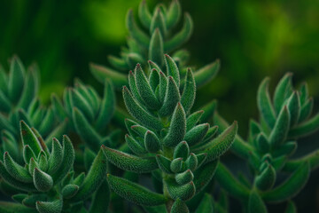
[[[97,193],[107,199],[109,192],[104,183],[107,164],[102,151],[97,154],[87,175],[80,173],[75,177],[74,146],[66,135],[62,144],[57,138],[52,138],[50,151],[37,132],[23,121],[20,122],[20,134],[25,165],[19,165],[9,152],[5,152],[4,161],[0,161],[0,177],[12,188],[12,199],[21,205],[0,202],[0,212],[15,209],[40,213],[78,212],[83,208],[83,201],[100,191],[99,187],[103,192]],[[93,198],[89,212],[105,206],[97,200]]]

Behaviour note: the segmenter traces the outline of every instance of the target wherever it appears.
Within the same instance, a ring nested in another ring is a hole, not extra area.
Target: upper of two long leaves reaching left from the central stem
[[[158,169],[158,164],[154,157],[137,157],[106,146],[102,146],[102,150],[106,159],[122,170],[144,173]]]

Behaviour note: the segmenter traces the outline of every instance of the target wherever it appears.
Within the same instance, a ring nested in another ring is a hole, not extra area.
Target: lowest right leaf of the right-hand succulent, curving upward
[[[262,199],[264,201],[279,202],[292,198],[306,185],[309,172],[309,163],[306,162],[291,177],[288,177],[283,184],[276,186],[271,191],[261,193]]]

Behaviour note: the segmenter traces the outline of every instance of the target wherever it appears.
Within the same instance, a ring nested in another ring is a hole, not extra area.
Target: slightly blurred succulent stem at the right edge
[[[319,166],[319,149],[299,159],[292,159],[292,154],[297,149],[298,138],[319,129],[319,114],[309,118],[314,101],[308,96],[307,83],[299,91],[294,90],[292,74],[288,73],[277,84],[273,99],[268,83],[267,77],[258,90],[260,122],[251,120],[247,141],[237,136],[232,146],[233,152],[248,162],[253,183],[246,177],[232,177],[222,164],[218,166],[216,178],[230,195],[242,201],[248,212],[267,212],[265,202],[282,201],[288,201],[286,212],[296,212],[291,199],[306,185],[310,171]],[[214,121],[227,127],[219,114],[214,116]],[[276,184],[282,172],[291,176]]]

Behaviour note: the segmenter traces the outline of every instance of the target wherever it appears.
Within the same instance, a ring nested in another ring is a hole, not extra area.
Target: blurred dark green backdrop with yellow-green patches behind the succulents
[[[44,103],[49,102],[53,91],[61,95],[66,85],[73,84],[74,77],[101,90],[89,72],[89,62],[108,65],[107,55],[118,55],[128,35],[126,12],[133,8],[136,15],[139,3],[140,0],[2,0],[0,63],[8,69],[7,59],[13,54],[18,54],[25,65],[36,62],[41,70]],[[159,1],[147,3],[152,8]],[[240,133],[245,135],[248,119],[257,119],[256,92],[261,80],[270,76],[270,90],[274,91],[284,73],[292,72],[297,85],[307,81],[310,95],[315,98],[315,112],[318,111],[319,1],[181,3],[183,11],[191,13],[195,26],[191,41],[184,46],[191,51],[190,65],[201,67],[218,58],[222,61],[216,79],[198,91],[197,106],[218,99],[220,113],[228,121],[237,120]],[[301,141],[296,155],[318,147],[318,138],[317,133]],[[237,162],[230,164],[237,169]],[[310,177],[296,199],[300,209],[307,209],[300,212],[316,212],[313,207],[319,192],[313,185],[318,186],[318,173]]]

